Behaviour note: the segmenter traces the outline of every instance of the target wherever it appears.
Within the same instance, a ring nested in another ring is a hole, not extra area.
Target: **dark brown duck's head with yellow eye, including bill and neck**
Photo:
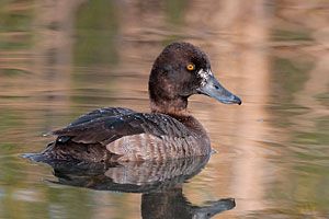
[[[151,69],[151,110],[162,113],[184,111],[193,94],[205,94],[225,104],[241,104],[241,100],[214,77],[205,53],[189,43],[172,43],[158,56]]]

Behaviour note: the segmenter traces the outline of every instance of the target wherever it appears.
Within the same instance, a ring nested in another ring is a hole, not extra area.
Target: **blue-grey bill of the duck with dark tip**
[[[242,103],[238,96],[226,90],[212,73],[207,74],[205,84],[198,88],[197,91],[216,99],[220,103],[239,105]]]

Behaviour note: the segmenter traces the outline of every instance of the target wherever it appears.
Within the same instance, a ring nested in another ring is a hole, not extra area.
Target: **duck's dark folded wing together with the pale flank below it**
[[[131,110],[100,110],[53,131],[57,141],[102,145],[121,160],[166,160],[202,153],[193,151],[196,138],[179,120],[163,114]]]

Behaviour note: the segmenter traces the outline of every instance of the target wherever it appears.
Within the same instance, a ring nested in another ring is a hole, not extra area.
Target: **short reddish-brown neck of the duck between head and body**
[[[150,100],[150,110],[152,113],[163,113],[169,115],[186,115],[188,99],[177,97],[168,100]]]

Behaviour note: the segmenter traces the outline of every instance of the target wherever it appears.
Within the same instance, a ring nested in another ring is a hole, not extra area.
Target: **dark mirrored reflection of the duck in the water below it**
[[[182,193],[183,183],[201,172],[208,157],[168,162],[128,162],[110,166],[83,163],[50,163],[57,184],[99,191],[141,193],[141,216],[152,218],[211,218],[236,206],[234,198],[191,204]]]

